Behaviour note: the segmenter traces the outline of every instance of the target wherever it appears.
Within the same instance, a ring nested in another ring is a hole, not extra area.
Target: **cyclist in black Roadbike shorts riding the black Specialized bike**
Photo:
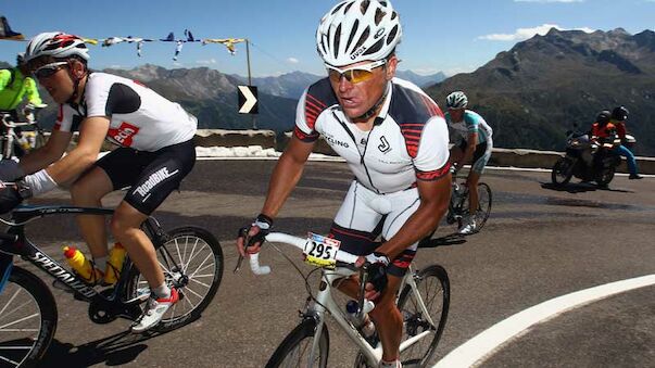
[[[5,181],[28,174],[17,188],[2,189],[9,191],[2,198],[13,201],[2,207],[61,183],[72,183],[75,205],[101,206],[109,192],[131,187],[112,216],[111,230],[150,284],[150,300],[133,326],[134,332],[142,332],[159,323],[178,301],[178,292],[165,282],[152,242],[140,226],[191,172],[197,119],[135,80],[89,71],[88,60],[84,40],[64,33],[37,35],[27,46],[25,61],[60,104],[59,114],[43,148],[13,167],[1,166],[0,179]],[[78,143],[63,156],[76,130]],[[119,148],[97,161],[105,137]],[[85,215],[77,223],[96,267],[100,272],[114,271],[106,263],[104,218]]]

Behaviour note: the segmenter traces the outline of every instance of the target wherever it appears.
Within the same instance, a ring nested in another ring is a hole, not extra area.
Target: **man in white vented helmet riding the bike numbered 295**
[[[316,45],[328,77],[301,97],[293,137],[273,172],[262,212],[237,240],[241,254],[259,252],[324,137],[355,176],[330,237],[347,252],[377,259],[367,297],[376,303],[370,317],[383,347],[382,367],[401,365],[403,317],[395,294],[418,241],[437,227],[450,200],[443,114],[418,87],[394,78],[401,35],[389,1],[342,1],[323,17]],[[244,250],[251,240],[254,245]],[[357,288],[356,278],[340,285],[352,297]]]

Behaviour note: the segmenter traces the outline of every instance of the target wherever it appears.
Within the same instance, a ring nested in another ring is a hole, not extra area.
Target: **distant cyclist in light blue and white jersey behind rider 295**
[[[484,172],[484,166],[491,157],[493,141],[491,136],[493,130],[478,113],[467,110],[468,98],[462,91],[455,91],[445,98],[448,112],[445,120],[453,129],[455,144],[451,149],[451,163],[455,169],[462,168],[464,163],[473,162],[470,172],[466,179],[468,191],[469,214],[475,214],[478,208],[478,191],[471,188],[478,188],[480,176]],[[459,229],[459,233],[469,234],[476,231],[476,219],[468,216]]]

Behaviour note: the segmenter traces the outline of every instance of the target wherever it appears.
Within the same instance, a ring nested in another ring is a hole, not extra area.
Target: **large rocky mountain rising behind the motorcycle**
[[[454,90],[494,129],[496,147],[562,151],[574,124],[587,130],[599,111],[626,105],[637,153],[655,155],[655,33],[621,28],[587,34],[551,29],[517,43],[469,74],[427,92],[441,105]]]

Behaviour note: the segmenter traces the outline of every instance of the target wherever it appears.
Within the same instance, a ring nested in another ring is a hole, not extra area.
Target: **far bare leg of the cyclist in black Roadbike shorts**
[[[76,206],[99,207],[102,206],[102,198],[113,190],[110,177],[102,168],[96,166],[73,183],[71,199]],[[78,215],[75,219],[93,258],[105,257],[108,254],[104,217]],[[104,269],[101,270],[104,271]]]

